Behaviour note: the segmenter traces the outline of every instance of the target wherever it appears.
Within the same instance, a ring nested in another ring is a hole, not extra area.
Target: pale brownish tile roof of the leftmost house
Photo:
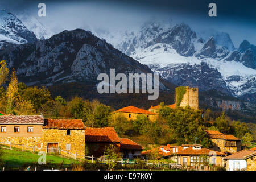
[[[2,115],[0,124],[34,124],[43,125],[44,119],[41,115]]]

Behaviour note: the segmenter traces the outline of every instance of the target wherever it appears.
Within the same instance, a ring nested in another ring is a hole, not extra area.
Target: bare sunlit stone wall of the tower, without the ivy
[[[190,106],[193,109],[199,109],[198,88],[190,88],[187,86],[186,89],[187,91],[183,95],[180,107]]]

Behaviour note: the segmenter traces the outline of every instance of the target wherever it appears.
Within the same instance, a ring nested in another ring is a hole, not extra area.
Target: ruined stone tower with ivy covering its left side
[[[198,88],[191,88],[189,86],[177,87],[175,101],[177,106],[190,106],[191,108],[198,110]]]

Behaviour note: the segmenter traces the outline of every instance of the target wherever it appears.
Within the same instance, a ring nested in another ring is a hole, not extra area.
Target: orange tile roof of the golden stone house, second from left
[[[85,130],[81,119],[44,119],[43,129]]]

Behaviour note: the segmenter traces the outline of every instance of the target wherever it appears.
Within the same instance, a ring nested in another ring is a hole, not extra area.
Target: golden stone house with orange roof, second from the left
[[[60,152],[70,157],[74,157],[73,154],[76,153],[77,158],[84,158],[84,123],[81,119],[44,119],[41,141],[46,152]]]

